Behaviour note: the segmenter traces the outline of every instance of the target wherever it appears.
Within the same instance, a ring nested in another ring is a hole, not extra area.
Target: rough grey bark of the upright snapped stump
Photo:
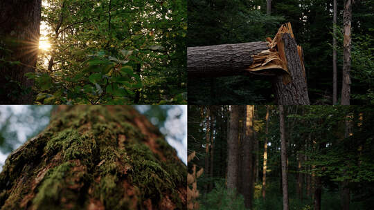
[[[303,66],[299,58],[297,44],[290,34],[285,33],[282,37],[285,44],[285,56],[287,68],[292,82],[284,84],[283,75],[274,77],[274,93],[278,104],[282,105],[309,105],[308,87],[306,84]]]

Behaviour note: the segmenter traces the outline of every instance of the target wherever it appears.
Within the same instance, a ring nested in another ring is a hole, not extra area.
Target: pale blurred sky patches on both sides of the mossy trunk
[[[44,111],[51,111],[52,106],[43,106]],[[143,113],[147,111],[148,106],[136,106],[136,108]],[[9,115],[19,115],[27,113],[27,106],[0,106],[0,128]],[[181,112],[181,113],[180,113]],[[177,118],[176,115],[181,115]],[[150,119],[154,121],[154,119]],[[26,123],[25,123],[26,122]],[[15,148],[18,148],[26,142],[27,137],[35,133],[35,127],[43,130],[49,122],[49,117],[23,117],[18,119],[17,117],[10,118],[10,131],[17,133],[17,139],[19,143],[16,143]],[[40,128],[42,127],[42,128]],[[161,133],[166,135],[168,143],[177,150],[179,158],[187,164],[187,106],[186,105],[175,105],[168,110],[168,117],[166,118],[165,125],[160,128]],[[17,140],[15,140],[17,142]],[[0,171],[9,153],[2,153],[0,151]]]

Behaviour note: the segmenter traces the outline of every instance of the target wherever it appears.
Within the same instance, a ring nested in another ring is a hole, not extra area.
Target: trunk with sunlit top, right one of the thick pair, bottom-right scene
[[[253,109],[254,105],[247,105],[245,120],[245,137],[243,142],[243,170],[242,187],[244,204],[246,208],[252,209],[253,196]]]

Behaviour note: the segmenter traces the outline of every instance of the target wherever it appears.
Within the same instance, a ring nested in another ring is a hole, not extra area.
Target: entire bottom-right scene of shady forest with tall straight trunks
[[[372,209],[372,106],[188,106],[188,209]]]

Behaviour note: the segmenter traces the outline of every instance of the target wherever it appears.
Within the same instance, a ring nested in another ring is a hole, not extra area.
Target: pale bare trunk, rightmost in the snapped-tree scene
[[[343,13],[343,23],[344,23],[344,38],[343,38],[343,83],[341,87],[341,105],[350,104],[350,26],[352,21],[352,2],[351,0],[346,0],[344,2],[344,13]]]

